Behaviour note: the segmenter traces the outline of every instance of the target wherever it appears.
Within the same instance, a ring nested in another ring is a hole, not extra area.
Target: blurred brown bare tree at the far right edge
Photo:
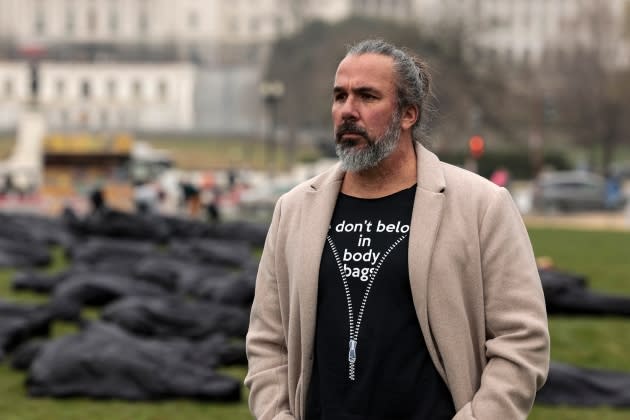
[[[628,141],[628,73],[617,62],[623,21],[609,2],[591,2],[569,21],[573,36],[555,46],[550,82],[560,116],[576,144],[590,151],[591,167],[606,172],[616,146]],[[552,47],[554,48],[554,47]],[[555,74],[554,74],[555,73]],[[601,159],[597,162],[597,157]]]

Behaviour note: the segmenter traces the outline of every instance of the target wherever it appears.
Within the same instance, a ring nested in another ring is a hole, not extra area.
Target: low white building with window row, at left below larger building
[[[189,63],[39,64],[35,98],[52,129],[194,129],[196,68]],[[11,130],[31,101],[29,66],[0,63],[0,130]]]

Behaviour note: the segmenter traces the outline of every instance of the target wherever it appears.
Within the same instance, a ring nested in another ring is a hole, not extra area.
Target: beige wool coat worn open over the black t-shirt
[[[409,277],[455,419],[524,419],[547,375],[549,333],[518,209],[504,188],[420,145],[416,153]],[[342,179],[336,166],[276,204],[247,334],[245,384],[258,419],[304,418],[319,263]]]

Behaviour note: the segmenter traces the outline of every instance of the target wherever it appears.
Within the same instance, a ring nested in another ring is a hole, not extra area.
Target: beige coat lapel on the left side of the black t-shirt
[[[298,262],[302,354],[311,355],[315,338],[317,315],[317,286],[319,266],[328,234],[337,196],[341,189],[343,172],[337,165],[327,176],[311,185],[302,206],[302,259]]]

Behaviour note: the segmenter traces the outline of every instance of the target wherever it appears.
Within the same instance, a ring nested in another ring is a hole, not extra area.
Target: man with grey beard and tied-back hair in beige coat
[[[278,200],[247,335],[258,419],[524,419],[549,334],[509,193],[418,143],[424,63],[384,41],[335,76],[340,163]]]

